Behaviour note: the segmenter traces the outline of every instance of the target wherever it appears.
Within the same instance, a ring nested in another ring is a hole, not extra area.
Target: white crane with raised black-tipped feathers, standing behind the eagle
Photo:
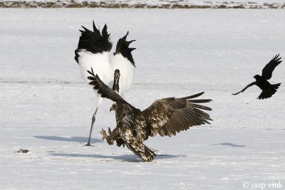
[[[120,89],[117,89],[117,93],[124,95],[130,87],[133,85],[135,78],[135,62],[133,60],[132,51],[135,48],[129,48],[130,43],[133,41],[127,41],[128,33],[118,40],[112,63],[108,58],[108,53],[112,49],[112,42],[110,41],[110,33],[107,31],[107,25],[102,29],[102,32],[96,28],[93,21],[93,31],[88,30],[82,26],[84,30],[81,31],[81,36],[78,41],[78,48],[76,49],[75,59],[81,70],[81,78],[90,83],[88,80],[88,72],[93,68],[95,74],[100,76],[100,79],[110,87],[113,85],[115,78],[120,76],[119,85]],[[119,70],[119,72],[115,72]],[[114,84],[115,85],[115,84]],[[95,112],[92,116],[92,123],[90,127],[90,134],[86,146],[90,146],[90,139],[93,130],[93,125],[96,120],[96,113],[100,107],[103,97],[101,97],[97,91],[95,91]]]

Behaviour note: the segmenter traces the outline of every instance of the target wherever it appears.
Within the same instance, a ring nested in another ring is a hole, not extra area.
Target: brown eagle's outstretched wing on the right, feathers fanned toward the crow
[[[168,97],[155,102],[142,111],[142,114],[150,123],[150,136],[154,137],[157,132],[160,136],[171,137],[176,132],[187,130],[194,125],[203,125],[212,120],[203,110],[212,110],[210,107],[197,103],[210,102],[210,99],[192,100],[203,93],[187,97]]]

